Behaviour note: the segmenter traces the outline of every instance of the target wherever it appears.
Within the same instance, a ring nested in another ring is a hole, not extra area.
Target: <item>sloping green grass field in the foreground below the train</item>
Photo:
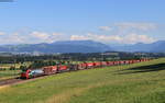
[[[165,58],[2,88],[0,103],[165,103]]]

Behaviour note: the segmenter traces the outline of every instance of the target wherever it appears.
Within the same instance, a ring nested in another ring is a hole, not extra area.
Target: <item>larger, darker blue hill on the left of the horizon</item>
[[[110,47],[92,41],[65,41],[52,44],[32,44],[32,45],[4,45],[0,46],[0,52],[8,53],[100,53],[110,50]]]

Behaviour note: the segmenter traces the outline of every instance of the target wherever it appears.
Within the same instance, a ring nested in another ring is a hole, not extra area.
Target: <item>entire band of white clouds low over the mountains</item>
[[[101,31],[110,31],[109,34],[87,33],[84,35],[67,35],[63,33],[47,33],[40,31],[25,31],[7,34],[0,32],[0,44],[37,44],[37,43],[53,43],[56,41],[98,41],[101,43],[120,43],[120,44],[135,44],[135,43],[152,43],[155,42],[153,37],[144,35],[143,32],[155,30],[157,27],[154,23],[116,23],[111,26],[100,26]],[[111,31],[113,28],[113,31]],[[135,30],[135,31],[132,31]],[[141,31],[141,32],[139,32]],[[105,33],[105,32],[103,32]],[[106,32],[108,33],[108,32]],[[118,35],[122,34],[122,35]]]

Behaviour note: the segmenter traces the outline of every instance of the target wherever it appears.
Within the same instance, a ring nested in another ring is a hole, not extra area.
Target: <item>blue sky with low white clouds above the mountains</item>
[[[14,0],[0,2],[0,44],[165,39],[164,0]]]

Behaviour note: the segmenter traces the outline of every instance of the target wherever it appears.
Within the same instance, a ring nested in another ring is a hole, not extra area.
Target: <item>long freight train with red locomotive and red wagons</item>
[[[85,70],[92,68],[101,68],[108,66],[117,66],[117,65],[129,65],[142,61],[148,61],[150,59],[139,59],[139,60],[120,60],[120,61],[95,61],[95,62],[81,62],[77,65],[56,65],[56,66],[47,66],[40,69],[25,69],[21,72],[22,79],[31,79],[41,76],[50,76],[61,72],[67,71],[76,71],[76,70]]]

